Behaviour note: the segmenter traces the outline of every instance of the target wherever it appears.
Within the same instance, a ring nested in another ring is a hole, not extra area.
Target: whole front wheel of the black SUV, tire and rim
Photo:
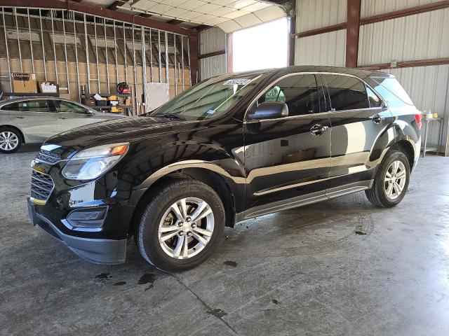
[[[180,179],[161,185],[143,211],[137,232],[142,257],[159,269],[192,269],[213,254],[225,228],[225,209],[206,184]]]

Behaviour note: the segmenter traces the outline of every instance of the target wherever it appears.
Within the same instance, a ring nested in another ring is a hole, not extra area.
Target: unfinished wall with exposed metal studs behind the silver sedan
[[[0,88],[11,91],[12,72],[34,72],[38,81],[57,82],[62,97],[79,101],[81,86],[109,94],[126,81],[140,113],[147,83],[168,83],[170,97],[191,85],[188,46],[187,36],[71,10],[2,7]]]

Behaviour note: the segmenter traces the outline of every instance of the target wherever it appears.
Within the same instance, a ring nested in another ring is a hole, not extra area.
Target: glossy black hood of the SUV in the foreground
[[[81,126],[55,134],[45,144],[70,147],[79,150],[86,147],[112,144],[115,142],[132,142],[166,132],[177,132],[185,128],[192,129],[197,121],[178,121],[168,118],[127,117],[107,120],[101,123]]]

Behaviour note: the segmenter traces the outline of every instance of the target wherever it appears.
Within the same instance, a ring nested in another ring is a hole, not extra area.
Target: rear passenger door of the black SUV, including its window
[[[394,118],[382,99],[362,80],[343,74],[322,74],[328,88],[332,125],[328,194],[339,189],[369,186],[377,141]],[[334,189],[332,189],[334,188]]]

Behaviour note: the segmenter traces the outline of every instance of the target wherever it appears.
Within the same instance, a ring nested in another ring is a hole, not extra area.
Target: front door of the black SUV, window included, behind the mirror
[[[257,104],[285,102],[288,116],[246,120],[245,217],[295,207],[326,198],[330,166],[330,120],[321,79],[314,74],[290,74],[265,90]],[[315,132],[323,127],[323,132]]]

